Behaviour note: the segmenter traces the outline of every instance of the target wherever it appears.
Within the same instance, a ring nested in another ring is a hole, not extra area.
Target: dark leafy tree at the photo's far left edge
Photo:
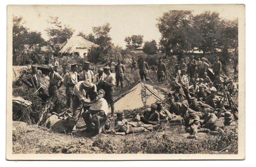
[[[23,17],[13,16],[12,63],[13,65],[43,64],[41,46],[45,44],[41,33],[24,27]]]

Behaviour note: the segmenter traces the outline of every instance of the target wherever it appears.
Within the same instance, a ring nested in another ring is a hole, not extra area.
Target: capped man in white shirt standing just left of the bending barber
[[[66,87],[66,96],[67,96],[67,106],[70,107],[72,99],[73,99],[73,89],[74,86],[78,82],[78,74],[77,74],[77,69],[78,66],[77,64],[72,64],[71,66],[71,72],[68,72],[66,75],[64,75],[64,81],[63,85]]]

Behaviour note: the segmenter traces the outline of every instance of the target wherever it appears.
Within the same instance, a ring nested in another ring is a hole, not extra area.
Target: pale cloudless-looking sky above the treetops
[[[156,19],[169,10],[193,10],[193,14],[203,11],[217,11],[220,17],[234,19],[238,17],[237,6],[232,5],[23,5],[12,6],[10,10],[15,16],[23,16],[25,27],[42,33],[50,25],[46,22],[48,16],[58,16],[62,24],[70,25],[78,32],[92,33],[92,27],[101,26],[105,22],[112,27],[110,36],[112,42],[125,47],[126,36],[141,34],[144,41],[152,39],[159,42],[161,37],[156,27]]]

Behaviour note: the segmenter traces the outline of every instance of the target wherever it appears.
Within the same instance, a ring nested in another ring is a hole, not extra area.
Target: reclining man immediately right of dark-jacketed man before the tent
[[[159,119],[162,122],[167,122],[169,121],[171,122],[178,122],[181,123],[181,117],[180,116],[176,116],[171,114],[168,110],[165,110],[163,108],[163,103],[162,102],[156,102],[157,108],[156,111],[159,113]],[[178,118],[180,117],[180,118]]]

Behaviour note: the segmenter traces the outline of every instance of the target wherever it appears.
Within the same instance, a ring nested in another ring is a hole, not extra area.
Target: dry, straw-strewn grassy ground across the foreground
[[[232,71],[230,71],[232,72]],[[149,77],[156,85],[168,86],[168,82],[158,82],[154,70],[149,70]],[[140,80],[138,70],[131,72],[127,69],[124,79],[124,89],[116,88],[116,96],[133,87],[134,82]],[[17,90],[16,90],[17,89]],[[18,89],[14,93],[19,93]],[[24,91],[25,92],[25,91]],[[65,92],[62,87],[60,92]],[[233,97],[237,101],[237,95]],[[65,104],[65,99],[61,101]],[[186,102],[186,101],[184,101]],[[58,105],[57,105],[58,106]],[[57,108],[60,110],[61,107]],[[128,110],[127,113],[136,114],[138,110]],[[59,112],[58,112],[59,113]],[[132,115],[134,115],[132,114]],[[233,116],[232,116],[233,118]],[[221,118],[223,119],[223,118]],[[234,118],[233,118],[234,120]],[[158,153],[158,154],[237,154],[238,131],[235,121],[225,126],[225,135],[210,135],[198,133],[198,140],[188,139],[184,125],[163,123],[153,132],[128,134],[126,136],[112,135],[114,120],[110,121],[107,134],[93,136],[85,133],[84,120],[79,119],[77,131],[72,134],[59,134],[44,126],[28,125],[25,122],[13,121],[13,154],[29,153]]]

